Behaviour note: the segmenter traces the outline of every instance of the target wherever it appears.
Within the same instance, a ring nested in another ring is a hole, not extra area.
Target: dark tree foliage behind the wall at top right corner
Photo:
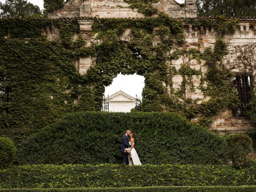
[[[256,16],[255,0],[198,0],[198,16]]]

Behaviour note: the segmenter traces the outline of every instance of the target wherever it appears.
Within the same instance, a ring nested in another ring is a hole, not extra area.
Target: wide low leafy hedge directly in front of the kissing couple
[[[0,170],[0,188],[256,185],[256,166],[28,165]]]

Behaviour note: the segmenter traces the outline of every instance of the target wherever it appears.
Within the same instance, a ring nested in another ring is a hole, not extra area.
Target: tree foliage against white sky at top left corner
[[[32,14],[40,14],[39,6],[36,6],[27,0],[6,0],[0,2],[0,18],[24,18]]]

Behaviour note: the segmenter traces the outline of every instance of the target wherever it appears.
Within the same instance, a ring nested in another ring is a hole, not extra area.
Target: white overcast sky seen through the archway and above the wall
[[[44,1],[43,0],[27,0],[34,5],[38,5],[40,9],[44,9]],[[184,0],[176,0],[179,3],[184,3]],[[0,2],[5,2],[5,0],[0,0]],[[106,87],[105,96],[112,95],[119,90],[126,92],[130,96],[135,97],[136,94],[138,97],[141,97],[142,89],[144,87],[144,77],[134,75],[121,75],[119,74],[116,78],[114,78],[113,83]]]

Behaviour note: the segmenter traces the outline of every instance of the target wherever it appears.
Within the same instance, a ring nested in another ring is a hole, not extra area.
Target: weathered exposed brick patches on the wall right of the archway
[[[224,34],[224,40],[228,43],[228,49],[230,54],[224,57],[223,63],[227,68],[229,68],[234,73],[245,73],[252,75],[251,84],[255,84],[256,79],[256,28],[255,28],[255,18],[240,18],[239,24],[236,26],[236,30],[226,30]],[[193,28],[191,24],[184,22],[184,33],[186,35],[186,46],[188,48],[198,48],[203,51],[206,47],[214,47],[214,42],[216,42],[216,37],[218,36],[218,30],[214,27],[198,27]],[[251,48],[248,52],[243,51],[246,48]],[[251,52],[249,57],[248,53]],[[246,54],[246,56],[241,59],[241,55]],[[247,59],[245,59],[247,58]],[[205,75],[207,70],[204,66],[205,61],[202,60],[201,64],[197,60],[188,60],[186,56],[182,56],[179,60],[175,60],[172,63],[176,69],[180,68],[179,63],[189,63],[191,68],[196,70],[202,67],[202,75]],[[247,63],[246,63],[247,62]],[[198,87],[200,84],[201,76],[193,76],[192,80],[194,86]],[[178,88],[182,81],[182,77],[175,76],[174,86]],[[206,84],[204,86],[207,86]],[[210,97],[205,97],[202,91],[198,88],[195,92],[190,91],[190,85],[186,86],[186,98],[207,101]],[[192,121],[196,121],[198,117],[193,118]],[[218,114],[214,116],[214,123],[210,126],[211,130],[217,132],[246,132],[254,130],[251,120],[249,118],[238,118],[232,116],[232,110],[225,108],[222,109]]]

